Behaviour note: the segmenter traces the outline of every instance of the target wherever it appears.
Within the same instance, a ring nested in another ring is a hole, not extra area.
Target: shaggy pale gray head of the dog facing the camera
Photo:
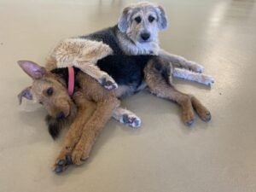
[[[167,27],[166,13],[155,3],[131,4],[123,10],[118,26],[133,42],[152,42],[158,38],[158,32]]]

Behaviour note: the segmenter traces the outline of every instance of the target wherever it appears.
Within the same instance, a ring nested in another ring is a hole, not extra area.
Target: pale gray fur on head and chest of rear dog
[[[149,16],[154,18],[152,22],[148,20]],[[137,17],[141,22],[137,22]],[[160,49],[158,33],[167,27],[166,13],[155,3],[131,4],[123,10],[118,26],[118,39],[125,54],[157,55]],[[148,33],[150,38],[143,40],[143,33]]]

